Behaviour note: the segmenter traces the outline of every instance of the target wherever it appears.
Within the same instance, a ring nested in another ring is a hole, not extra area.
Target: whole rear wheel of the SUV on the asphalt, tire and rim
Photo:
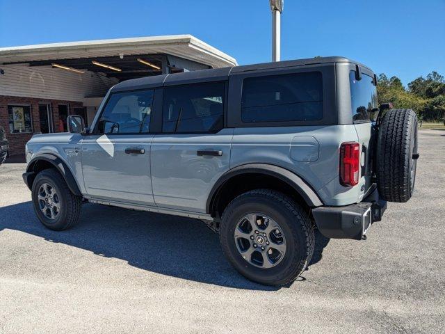
[[[286,285],[300,276],[314,253],[314,240],[304,210],[268,189],[232,200],[220,224],[220,242],[229,262],[246,278],[265,285]]]

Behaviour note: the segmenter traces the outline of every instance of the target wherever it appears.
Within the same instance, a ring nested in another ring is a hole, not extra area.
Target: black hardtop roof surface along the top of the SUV
[[[143,88],[154,88],[160,86],[191,84],[192,82],[195,81],[199,82],[223,81],[227,80],[229,74],[232,73],[248,72],[254,70],[269,70],[273,68],[282,68],[282,67],[317,65],[326,63],[354,63],[362,67],[366,67],[369,71],[373,72],[369,67],[361,63],[358,63],[357,61],[353,61],[345,57],[332,56],[332,57],[297,59],[294,61],[278,61],[272,63],[241,65],[234,67],[221,67],[209,70],[197,70],[197,71],[182,72],[175,74],[154,75],[152,77],[143,77],[138,79],[122,81],[111,89],[113,91],[135,90]]]

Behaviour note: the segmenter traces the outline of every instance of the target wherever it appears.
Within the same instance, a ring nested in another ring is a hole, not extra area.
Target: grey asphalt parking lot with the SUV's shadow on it
[[[302,278],[245,280],[202,223],[83,205],[40,225],[24,164],[0,166],[0,333],[444,333],[445,132],[419,133],[416,192],[366,241],[317,234]]]

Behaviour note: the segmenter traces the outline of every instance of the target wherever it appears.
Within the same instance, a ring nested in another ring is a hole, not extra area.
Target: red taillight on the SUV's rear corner
[[[355,186],[359,183],[360,144],[342,143],[340,147],[340,183]]]

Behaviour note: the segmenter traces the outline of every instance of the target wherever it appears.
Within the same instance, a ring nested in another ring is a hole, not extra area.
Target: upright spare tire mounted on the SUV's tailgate
[[[377,186],[389,202],[407,202],[416,180],[417,117],[412,109],[391,109],[378,130]]]

